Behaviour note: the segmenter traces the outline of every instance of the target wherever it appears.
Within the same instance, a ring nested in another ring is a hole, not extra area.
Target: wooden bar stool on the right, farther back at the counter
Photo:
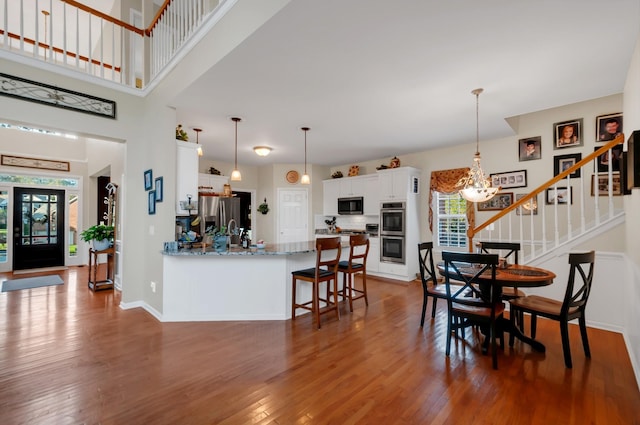
[[[367,255],[369,254],[369,235],[351,235],[349,237],[349,261],[340,261],[338,271],[342,272],[342,298],[349,298],[349,310],[353,312],[353,301],[367,298]],[[355,275],[362,273],[362,289],[355,285]],[[356,294],[355,296],[353,294]]]

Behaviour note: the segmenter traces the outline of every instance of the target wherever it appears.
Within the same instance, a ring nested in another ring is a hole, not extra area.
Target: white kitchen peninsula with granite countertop
[[[291,272],[316,261],[314,241],[162,254],[163,322],[290,319]],[[311,299],[310,286],[299,299]]]

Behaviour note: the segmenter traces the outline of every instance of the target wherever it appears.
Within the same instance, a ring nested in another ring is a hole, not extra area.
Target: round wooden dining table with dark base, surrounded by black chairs
[[[457,263],[458,270],[464,277],[473,277],[478,269],[473,264]],[[437,264],[438,272],[442,276],[446,276],[447,270],[445,269],[444,262]],[[457,276],[455,272],[450,271],[449,277],[453,280]],[[556,275],[550,270],[542,269],[539,267],[528,266],[524,264],[505,264],[503,267],[496,267],[495,280],[491,278],[490,270],[482,273],[478,276],[478,284],[480,291],[494,290],[494,296],[498,297],[502,294],[503,287],[516,287],[516,288],[535,288],[548,286],[553,283]],[[493,288],[491,288],[493,287]],[[497,291],[497,292],[496,292]],[[544,353],[545,346],[540,341],[537,341],[527,335],[525,335],[518,326],[513,325],[510,320],[504,319],[500,324],[501,328],[505,332],[509,332],[515,338],[520,341],[529,344],[534,350]]]

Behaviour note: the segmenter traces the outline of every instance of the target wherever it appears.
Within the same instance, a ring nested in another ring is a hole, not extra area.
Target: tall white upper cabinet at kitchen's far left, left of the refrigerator
[[[180,207],[180,201],[198,200],[198,145],[176,140],[176,214],[189,215]]]

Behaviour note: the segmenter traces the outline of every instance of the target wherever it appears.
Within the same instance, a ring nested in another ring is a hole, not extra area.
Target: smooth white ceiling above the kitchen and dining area
[[[506,118],[621,93],[639,18],[640,0],[292,0],[174,105],[224,162],[242,117],[240,164],[302,162],[302,126],[321,165],[472,143],[477,87],[481,140],[507,137]]]

